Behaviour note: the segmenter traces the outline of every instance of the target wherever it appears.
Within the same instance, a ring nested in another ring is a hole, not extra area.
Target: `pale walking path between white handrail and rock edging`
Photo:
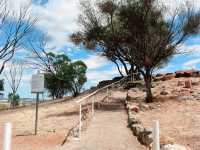
[[[80,141],[70,141],[67,150],[144,150],[129,128],[124,109],[98,110]]]

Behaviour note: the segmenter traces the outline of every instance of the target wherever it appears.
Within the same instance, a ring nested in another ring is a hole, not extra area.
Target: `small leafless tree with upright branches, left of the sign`
[[[13,60],[12,63],[9,64],[8,68],[9,68],[8,71],[4,72],[4,76],[8,82],[8,85],[12,90],[11,105],[15,107],[16,102],[14,97],[17,96],[17,90],[22,81],[22,76],[24,72],[24,63],[19,60]]]

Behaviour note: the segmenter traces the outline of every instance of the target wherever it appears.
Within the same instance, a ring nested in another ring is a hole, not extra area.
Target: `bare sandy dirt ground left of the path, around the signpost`
[[[100,100],[104,96],[105,94],[100,93],[96,96],[96,100]],[[0,147],[2,147],[3,142],[3,125],[6,122],[11,122],[13,125],[12,150],[57,149],[65,139],[69,129],[78,123],[79,105],[75,100],[81,97],[40,106],[37,136],[34,135],[35,106],[1,111]]]

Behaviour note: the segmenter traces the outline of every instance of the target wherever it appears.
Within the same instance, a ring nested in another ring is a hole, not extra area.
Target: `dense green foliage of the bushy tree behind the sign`
[[[87,81],[87,66],[82,61],[71,62],[64,54],[48,54],[52,61],[55,73],[46,73],[46,88],[50,96],[54,98],[62,98],[67,92],[71,92],[73,96],[77,96]]]

